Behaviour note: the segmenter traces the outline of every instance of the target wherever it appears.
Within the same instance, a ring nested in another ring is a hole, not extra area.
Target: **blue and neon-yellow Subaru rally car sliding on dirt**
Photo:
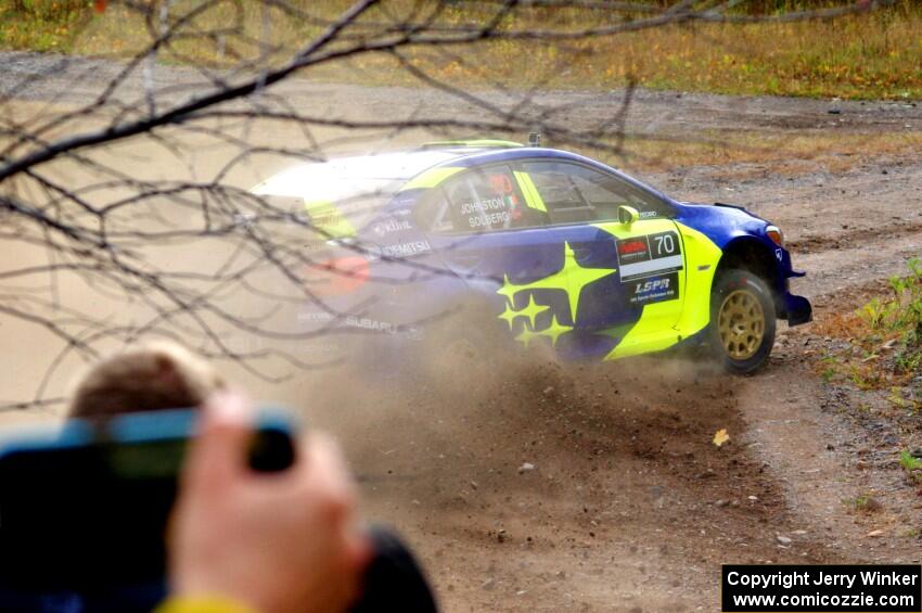
[[[768,358],[777,318],[811,317],[789,292],[803,273],[777,227],[564,151],[431,143],[303,164],[253,193],[306,227],[298,273],[320,298],[298,314],[306,328],[392,342],[443,328],[604,360],[703,346],[745,373]],[[473,315],[440,327],[458,305]]]

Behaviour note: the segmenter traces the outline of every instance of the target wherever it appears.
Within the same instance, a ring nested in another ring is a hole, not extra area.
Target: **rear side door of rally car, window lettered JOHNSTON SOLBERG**
[[[545,229],[547,212],[532,206],[512,168],[497,164],[464,170],[431,190],[417,222],[453,274],[478,299],[478,327],[532,346],[553,337],[566,305],[562,245]],[[568,323],[568,322],[566,322]]]

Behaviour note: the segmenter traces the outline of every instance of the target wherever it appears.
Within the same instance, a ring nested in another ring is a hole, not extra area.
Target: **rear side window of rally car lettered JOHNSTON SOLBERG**
[[[473,168],[432,190],[418,206],[431,232],[473,233],[542,226],[546,214],[525,205],[508,166]]]

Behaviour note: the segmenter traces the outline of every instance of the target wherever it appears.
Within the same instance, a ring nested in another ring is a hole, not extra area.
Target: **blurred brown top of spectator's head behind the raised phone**
[[[74,418],[105,418],[197,407],[226,387],[215,369],[184,347],[150,343],[94,365],[77,383],[67,412]]]

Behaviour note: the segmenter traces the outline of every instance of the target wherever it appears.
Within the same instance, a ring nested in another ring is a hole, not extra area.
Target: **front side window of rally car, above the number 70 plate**
[[[669,205],[653,194],[579,164],[528,162],[522,168],[545,201],[551,224],[614,220],[620,205],[636,208],[641,218],[671,214]]]

